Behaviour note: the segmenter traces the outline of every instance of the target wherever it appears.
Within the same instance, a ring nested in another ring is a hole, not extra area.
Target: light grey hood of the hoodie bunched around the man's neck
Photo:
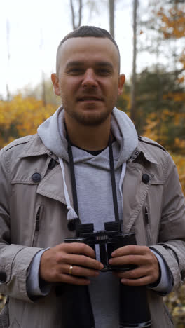
[[[62,106],[55,111],[53,116],[50,116],[50,118],[44,121],[37,131],[46,148],[55,153],[59,158],[69,162],[67,139],[64,129],[64,109]],[[123,111],[116,109],[116,107],[114,107],[111,115],[111,131],[117,141],[117,143],[114,143],[114,165],[115,168],[118,168],[130,158],[132,152],[137,147],[137,132],[130,118]],[[95,156],[83,151],[83,158],[78,158],[78,151],[75,152],[75,150],[76,147],[73,149],[74,163],[82,160],[90,160],[93,164],[93,158]],[[99,156],[96,156],[97,166],[100,165],[101,167],[102,163],[105,164],[105,162],[107,162],[107,151],[109,151],[109,149],[105,149]],[[100,163],[98,163],[99,160]],[[107,165],[109,168],[109,163],[107,163]]]

